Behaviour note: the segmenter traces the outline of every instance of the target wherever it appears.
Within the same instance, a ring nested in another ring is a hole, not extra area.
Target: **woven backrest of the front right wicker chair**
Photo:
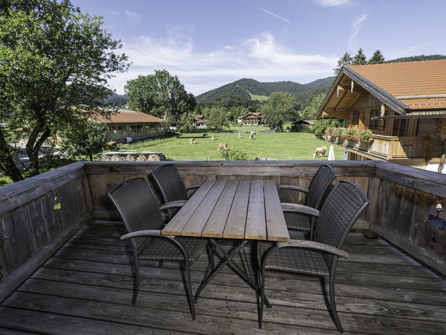
[[[314,240],[341,249],[353,224],[369,205],[362,189],[346,180],[340,180],[328,194],[314,231]],[[331,269],[333,256],[324,254]]]

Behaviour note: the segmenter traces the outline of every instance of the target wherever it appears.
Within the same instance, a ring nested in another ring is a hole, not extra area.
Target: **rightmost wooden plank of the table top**
[[[266,231],[269,241],[289,241],[290,236],[274,180],[263,180]]]

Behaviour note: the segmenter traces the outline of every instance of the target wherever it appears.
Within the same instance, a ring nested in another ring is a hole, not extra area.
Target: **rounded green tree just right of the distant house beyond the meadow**
[[[262,122],[274,130],[282,132],[282,125],[296,117],[295,96],[287,92],[273,92],[270,99],[262,105]]]

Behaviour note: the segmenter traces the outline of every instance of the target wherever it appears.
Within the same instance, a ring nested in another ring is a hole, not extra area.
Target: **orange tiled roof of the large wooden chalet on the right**
[[[446,59],[352,65],[350,68],[395,98],[409,95],[446,95]],[[410,109],[446,107],[446,98],[398,98]]]

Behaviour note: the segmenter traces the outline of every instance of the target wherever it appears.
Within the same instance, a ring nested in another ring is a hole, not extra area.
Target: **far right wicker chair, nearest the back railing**
[[[308,189],[293,185],[279,185],[280,189],[291,189],[293,191],[303,192],[307,194],[305,203],[303,204],[309,208],[320,210],[323,204],[323,199],[330,189],[330,185],[334,180],[334,170],[330,165],[322,165],[314,175],[312,182],[310,182]],[[296,209],[299,212],[296,212]],[[286,226],[293,231],[307,231],[309,239],[313,240],[314,226],[316,225],[316,218],[307,214],[302,209],[302,205],[295,203],[282,203],[282,210],[284,210],[284,217]]]

